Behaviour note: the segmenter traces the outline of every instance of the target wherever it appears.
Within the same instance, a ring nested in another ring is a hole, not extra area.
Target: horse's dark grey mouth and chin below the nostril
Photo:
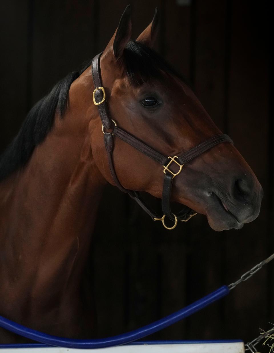
[[[210,195],[210,202],[207,207],[207,218],[210,227],[217,232],[225,229],[241,229],[244,226],[244,223],[238,221],[237,217],[214,192]]]

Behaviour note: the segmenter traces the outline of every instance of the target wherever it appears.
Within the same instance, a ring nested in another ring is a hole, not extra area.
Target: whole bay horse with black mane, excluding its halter
[[[158,23],[156,11],[131,40],[128,6],[100,56],[101,80],[118,126],[175,156],[221,132],[151,48]],[[93,94],[89,63],[35,104],[0,159],[0,315],[75,338],[94,332],[92,305],[80,288],[102,190],[115,185]],[[112,130],[104,132],[112,136]],[[123,188],[162,198],[159,163],[122,139],[115,139],[112,159]],[[240,229],[258,216],[262,187],[234,145],[223,142],[184,166],[171,199],[206,215],[215,231]],[[107,214],[105,219],[111,223]],[[18,341],[0,331],[1,343]]]

